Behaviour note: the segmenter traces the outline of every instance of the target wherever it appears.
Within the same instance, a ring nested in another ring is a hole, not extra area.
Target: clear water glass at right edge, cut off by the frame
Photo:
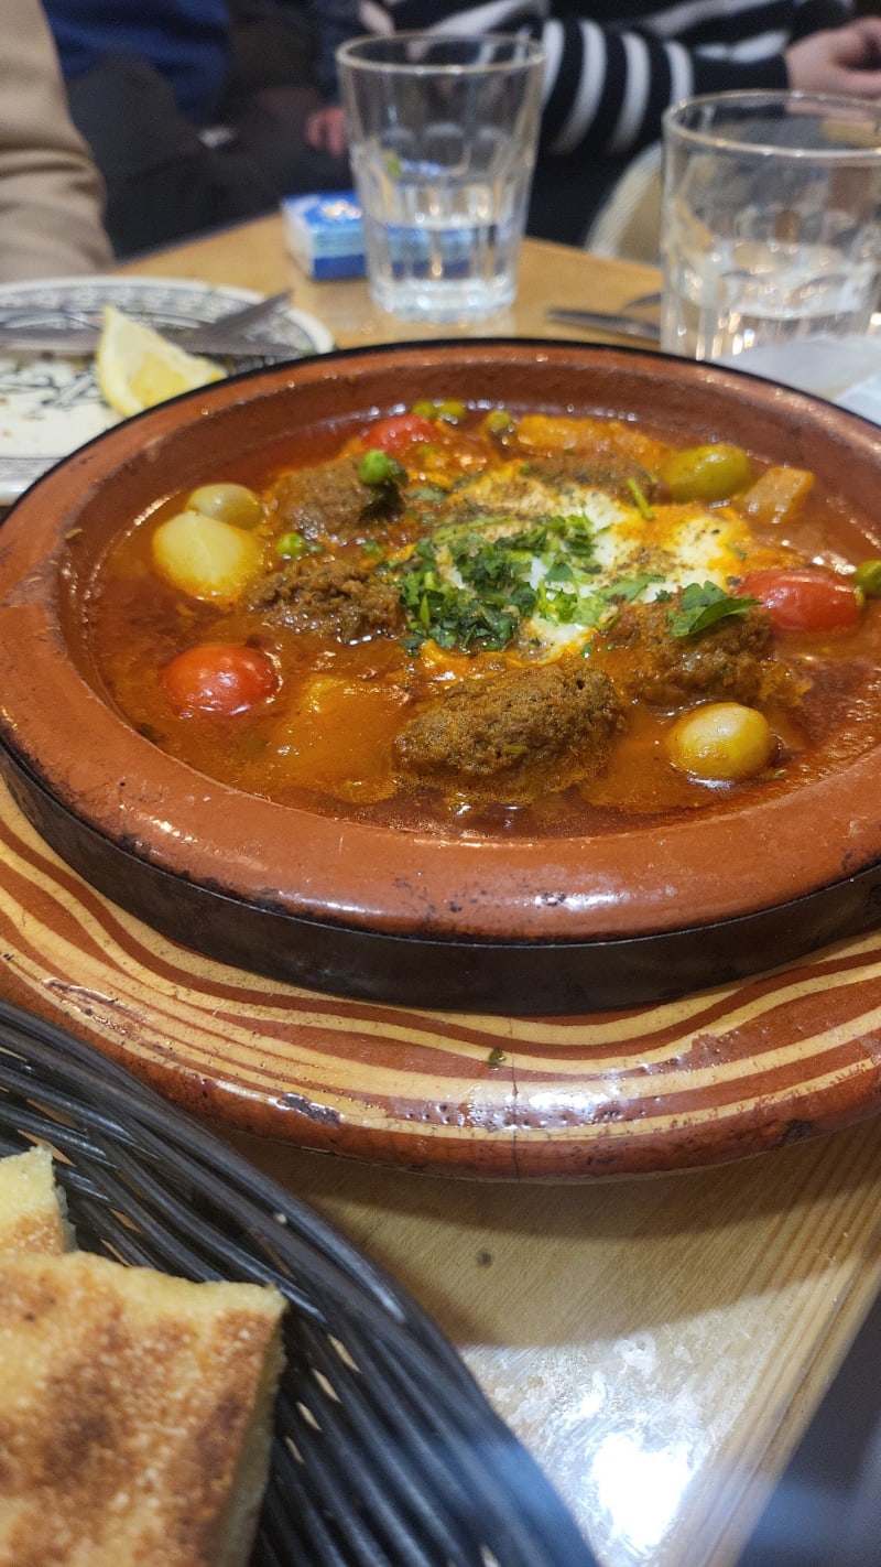
[[[731,357],[865,332],[881,277],[881,107],[720,92],[663,121],[660,346]]]

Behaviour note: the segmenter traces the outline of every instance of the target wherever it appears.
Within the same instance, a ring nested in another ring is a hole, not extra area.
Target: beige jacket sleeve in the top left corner
[[[39,0],[3,0],[0,282],[92,273],[113,262],[103,186],[75,130]]]

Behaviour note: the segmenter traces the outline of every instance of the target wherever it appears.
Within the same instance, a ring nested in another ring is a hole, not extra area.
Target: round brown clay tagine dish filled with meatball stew
[[[878,925],[875,429],[649,353],[430,356],[216,382],[23,495],[0,762],[28,820],[186,946],[407,1006],[640,1006]],[[703,448],[734,469],[682,486]],[[246,586],[192,588],[156,537],[227,483],[261,506]],[[509,574],[482,619],[477,567]],[[787,627],[775,572],[843,619]],[[218,644],[247,711],[169,675]],[[721,776],[685,722],[718,707],[753,715]]]

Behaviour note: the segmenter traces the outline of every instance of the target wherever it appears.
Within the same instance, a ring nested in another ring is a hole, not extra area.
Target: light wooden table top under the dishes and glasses
[[[361,282],[310,284],[275,218],[125,270],[289,284],[341,346],[432,335]],[[516,306],[482,331],[566,337],[546,302],[617,309],[656,284],[529,241]],[[878,1119],[718,1169],[529,1188],[235,1141],[433,1313],[602,1567],[731,1567],[881,1285]]]

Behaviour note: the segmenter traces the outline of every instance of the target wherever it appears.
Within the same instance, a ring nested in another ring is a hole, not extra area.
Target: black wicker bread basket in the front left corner
[[[255,1567],[596,1567],[405,1290],[122,1067],[0,1001],[0,1153],[34,1139],[83,1249],[291,1302]]]

